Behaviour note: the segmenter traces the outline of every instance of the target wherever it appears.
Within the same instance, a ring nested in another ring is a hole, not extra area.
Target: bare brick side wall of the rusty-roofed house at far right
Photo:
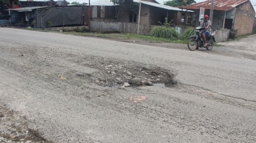
[[[237,7],[233,29],[238,30],[238,35],[252,33],[254,16],[255,12],[250,1]]]

